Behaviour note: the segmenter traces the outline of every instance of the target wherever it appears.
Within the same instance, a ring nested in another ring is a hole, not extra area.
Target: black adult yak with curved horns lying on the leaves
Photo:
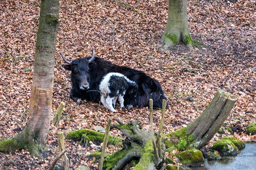
[[[138,84],[137,97],[130,96],[129,93],[124,96],[124,106],[128,109],[149,106],[150,98],[153,99],[154,108],[162,108],[162,100],[166,100],[160,83],[143,71],[112,64],[110,61],[95,57],[94,51],[92,57],[74,59],[72,62],[65,59],[61,51],[60,53],[67,63],[64,68],[71,71],[70,97],[76,102],[86,99],[98,103],[100,101],[99,84],[103,76],[110,72],[121,73]]]

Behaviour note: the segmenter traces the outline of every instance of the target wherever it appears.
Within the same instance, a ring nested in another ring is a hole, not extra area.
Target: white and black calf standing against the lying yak
[[[125,93],[129,93],[136,97],[138,85],[120,73],[108,73],[102,78],[99,90],[101,92],[100,101],[104,107],[112,112],[116,112],[114,108],[116,106],[117,98],[121,109],[125,110],[123,104]]]

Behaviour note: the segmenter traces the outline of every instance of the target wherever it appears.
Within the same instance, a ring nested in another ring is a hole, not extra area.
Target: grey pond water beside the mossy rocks
[[[222,157],[220,161],[205,160],[203,167],[191,170],[256,170],[256,144],[247,143],[236,157]]]

